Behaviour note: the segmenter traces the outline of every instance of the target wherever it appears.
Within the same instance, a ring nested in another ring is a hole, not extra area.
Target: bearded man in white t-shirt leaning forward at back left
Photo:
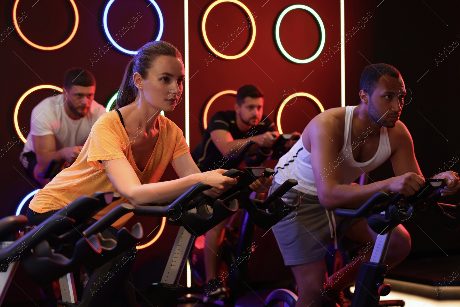
[[[64,91],[43,99],[32,110],[30,133],[19,159],[26,174],[40,187],[50,180],[40,179],[52,159],[57,165],[71,165],[85,144],[92,125],[105,113],[93,100],[96,79],[87,70],[72,68],[64,75]]]

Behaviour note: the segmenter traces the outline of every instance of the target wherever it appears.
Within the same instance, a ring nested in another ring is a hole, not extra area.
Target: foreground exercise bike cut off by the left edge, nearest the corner
[[[26,226],[28,219],[24,215],[7,216],[0,220],[0,304],[19,261],[29,276],[44,287],[99,255],[102,249],[97,236],[81,237],[81,234],[75,236],[75,233],[81,229],[80,222],[86,226],[85,214],[89,215],[88,218],[92,216],[92,211],[88,209],[105,207],[112,201],[113,194],[99,192],[92,197],[79,197],[36,227]],[[57,240],[64,242],[64,230],[69,230],[73,237],[73,249],[66,255],[52,250],[49,245],[49,242]]]

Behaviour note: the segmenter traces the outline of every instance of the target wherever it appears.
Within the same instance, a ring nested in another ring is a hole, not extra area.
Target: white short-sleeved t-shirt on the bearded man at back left
[[[23,152],[35,152],[32,135],[53,134],[56,151],[69,146],[82,146],[88,139],[92,125],[104,113],[104,106],[93,100],[85,117],[71,119],[64,110],[63,94],[45,98],[32,110],[30,132]]]

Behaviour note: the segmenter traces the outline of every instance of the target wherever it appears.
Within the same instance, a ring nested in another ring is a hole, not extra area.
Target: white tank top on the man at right
[[[364,131],[361,137],[356,140],[351,140],[351,127],[353,122],[353,110],[357,106],[346,106],[345,108],[345,133],[344,133],[344,146],[342,151],[339,152],[334,161],[328,163],[326,167],[321,170],[321,177],[325,178],[334,169],[339,166],[342,168],[344,185],[349,185],[355,181],[361,174],[370,172],[377,168],[386,161],[391,155],[390,140],[388,139],[388,131],[386,127],[380,129],[380,142],[379,148],[375,155],[366,162],[356,162],[353,158],[353,149],[361,146],[366,141],[368,133],[372,132],[369,127]],[[308,152],[302,143],[302,138],[289,150],[284,156],[280,158],[275,168],[275,182],[282,184],[289,178],[299,181],[299,185],[295,189],[301,193],[308,193],[311,196],[318,196],[315,185],[315,177],[311,169],[311,153]]]

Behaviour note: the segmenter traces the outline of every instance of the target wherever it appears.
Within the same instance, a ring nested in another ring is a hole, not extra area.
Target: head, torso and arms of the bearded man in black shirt
[[[220,111],[211,117],[201,143],[192,152],[201,172],[238,168],[243,160],[248,166],[259,166],[270,156],[269,147],[278,133],[275,123],[262,114],[263,97],[258,87],[242,86],[236,93],[235,110]],[[245,159],[247,150],[254,143],[260,146],[258,158]]]

